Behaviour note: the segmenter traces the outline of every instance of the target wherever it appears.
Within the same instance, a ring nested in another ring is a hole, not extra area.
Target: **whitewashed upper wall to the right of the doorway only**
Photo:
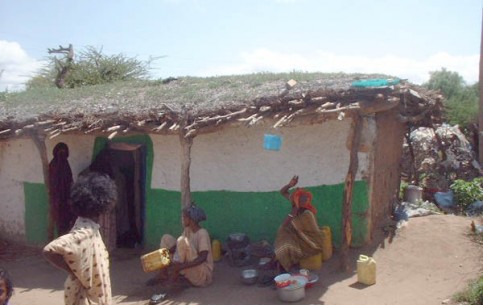
[[[364,142],[373,141],[372,120],[364,125]],[[299,175],[300,186],[337,184],[349,165],[350,120],[328,121],[274,130],[271,125],[229,127],[194,138],[191,190],[273,191]],[[280,151],[263,149],[265,133],[278,134]],[[152,187],[179,190],[180,144],[177,136],[153,136]],[[369,154],[359,153],[359,172],[367,172]]]

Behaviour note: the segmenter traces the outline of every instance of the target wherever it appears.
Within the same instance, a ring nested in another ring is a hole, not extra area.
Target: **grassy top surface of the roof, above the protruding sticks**
[[[54,87],[4,94],[0,100],[0,120],[24,120],[43,113],[119,111],[136,113],[146,109],[184,107],[197,112],[246,104],[255,99],[276,96],[290,79],[298,82],[294,90],[347,89],[357,78],[384,77],[361,74],[256,73],[220,77],[181,77],[163,80],[117,82],[59,90]],[[385,76],[387,77],[387,76]]]

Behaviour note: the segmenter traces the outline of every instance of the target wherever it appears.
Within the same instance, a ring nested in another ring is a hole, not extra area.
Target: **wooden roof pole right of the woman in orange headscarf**
[[[350,141],[349,170],[345,178],[342,205],[342,245],[340,268],[349,271],[349,247],[352,241],[352,194],[355,176],[359,167],[359,144],[361,142],[362,117],[356,114],[352,119],[352,139]]]

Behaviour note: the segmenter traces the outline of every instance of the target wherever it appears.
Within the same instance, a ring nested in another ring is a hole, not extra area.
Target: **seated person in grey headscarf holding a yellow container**
[[[200,226],[206,220],[205,212],[191,204],[182,211],[184,230],[175,239],[169,234],[161,238],[160,247],[169,249],[172,254],[171,264],[160,271],[147,284],[154,285],[169,280],[171,283],[182,283],[185,279],[195,287],[205,287],[213,280],[213,255],[208,231]],[[181,275],[181,276],[180,276]]]

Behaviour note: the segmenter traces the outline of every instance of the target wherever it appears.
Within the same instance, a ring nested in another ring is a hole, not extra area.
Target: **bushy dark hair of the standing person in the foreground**
[[[77,216],[92,218],[107,211],[117,200],[114,180],[89,172],[79,176],[71,189],[71,205]]]

